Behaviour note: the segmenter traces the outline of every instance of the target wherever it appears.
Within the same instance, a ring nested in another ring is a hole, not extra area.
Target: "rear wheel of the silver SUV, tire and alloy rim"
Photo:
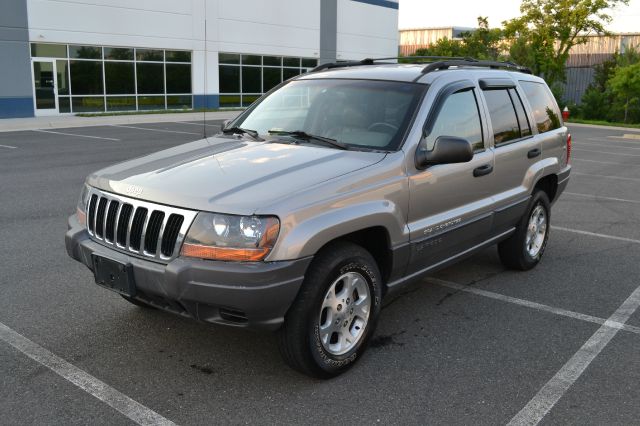
[[[527,271],[540,262],[549,239],[550,212],[549,197],[544,191],[536,191],[516,232],[498,244],[498,254],[504,266]]]

